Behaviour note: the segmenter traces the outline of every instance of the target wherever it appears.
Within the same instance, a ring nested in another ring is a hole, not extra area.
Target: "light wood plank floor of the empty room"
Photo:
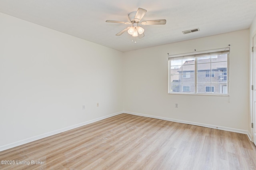
[[[121,114],[0,152],[0,169],[256,170],[246,134]],[[44,164],[32,164],[31,160]]]

